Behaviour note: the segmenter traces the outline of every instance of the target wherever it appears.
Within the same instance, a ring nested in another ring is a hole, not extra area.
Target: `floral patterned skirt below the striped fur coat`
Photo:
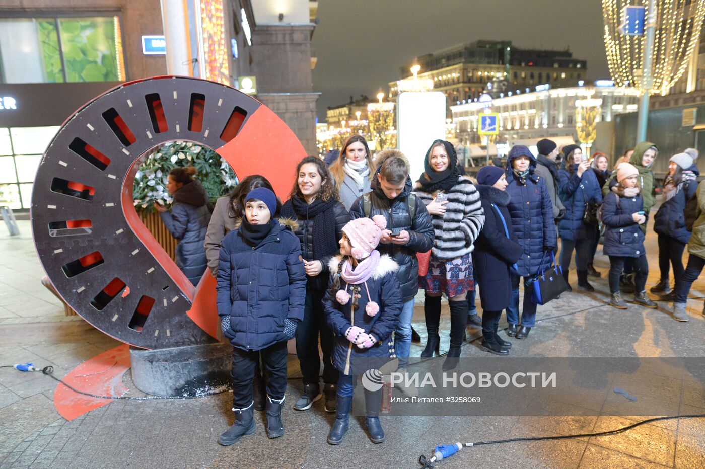
[[[445,293],[458,296],[475,289],[472,277],[472,256],[465,256],[443,261],[433,256],[429,259],[429,272],[419,277],[419,287],[427,293]]]

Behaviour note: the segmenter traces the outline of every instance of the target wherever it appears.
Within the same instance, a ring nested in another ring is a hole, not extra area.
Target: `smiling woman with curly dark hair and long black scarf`
[[[301,255],[306,271],[304,318],[296,328],[296,354],[304,379],[304,393],[294,404],[305,411],[321,398],[319,371],[323,351],[323,382],[327,412],[336,411],[338,371],[333,367],[333,332],[326,325],[323,296],[328,287],[329,260],[338,254],[338,241],[343,226],[350,221],[345,206],[338,201],[338,189],[326,163],[307,156],[296,167],[296,182],[289,200],[281,209],[281,218],[292,220],[291,228],[301,242]]]

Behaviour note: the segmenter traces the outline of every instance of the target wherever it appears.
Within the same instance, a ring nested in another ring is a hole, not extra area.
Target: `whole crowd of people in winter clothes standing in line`
[[[474,181],[453,145],[436,140],[413,181],[400,151],[380,151],[373,161],[365,139],[355,135],[327,163],[300,161],[285,203],[265,177],[251,175],[216,201],[210,223],[193,172],[172,171],[168,190],[176,203],[171,212],[157,209],[180,239],[177,260],[190,280],[196,284],[197,270],[202,275],[206,268],[216,277],[221,329],[233,345],[235,423],[219,442],[254,432],[255,410],[266,412],[269,437],[283,434],[286,341],[295,338],[304,390],[293,408],[306,411],[324,397],[325,411],[336,413],[329,443],[341,443],[365,361],[396,358],[405,373],[419,288],[427,328],[422,357],[440,354],[443,295],[450,309],[444,370],[458,365],[468,324],[481,325],[482,350],[508,355],[512,344],[498,332],[501,312],[506,336],[527,339],[537,304],[525,287],[520,313],[520,282],[532,282],[555,258],[558,237],[566,282],[575,251],[577,287],[594,292],[589,277],[601,276],[593,260],[603,239],[609,303],[627,308],[627,292],[634,294],[630,302],[655,308],[646,295],[644,235],[656,201],[649,169],[656,145],[638,144],[613,171],[605,154],[589,158],[577,145],[559,149],[544,139],[537,149],[535,157],[527,146],[513,146],[505,168],[485,166]],[[697,183],[695,158],[692,149],[670,158],[654,215],[661,280],[651,292],[673,301],[673,317],[681,321],[688,318],[690,285],[705,267],[705,186]],[[193,249],[194,242],[205,250]],[[474,315],[476,288],[481,322]],[[380,400],[381,392],[365,390],[374,443],[384,441]]]

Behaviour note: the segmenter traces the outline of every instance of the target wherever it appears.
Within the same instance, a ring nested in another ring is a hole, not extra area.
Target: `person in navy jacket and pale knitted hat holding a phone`
[[[637,185],[639,170],[630,163],[620,163],[617,167],[617,190],[609,192],[602,204],[602,223],[605,225],[603,253],[610,257],[610,304],[618,309],[627,309],[619,291],[619,277],[628,258],[634,259],[636,304],[646,308],[656,308],[654,301],[646,296],[644,285],[649,276],[649,263],[644,249],[644,233],[641,227],[646,223],[644,200]]]

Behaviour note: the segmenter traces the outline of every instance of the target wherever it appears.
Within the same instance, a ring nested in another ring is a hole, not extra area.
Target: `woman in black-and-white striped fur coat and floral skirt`
[[[457,358],[467,322],[465,296],[474,291],[470,253],[484,225],[484,211],[477,189],[462,175],[450,142],[436,140],[431,144],[424,158],[424,173],[417,181],[417,196],[426,204],[434,227],[429,271],[419,277],[426,292],[424,315],[429,334],[421,356],[432,356],[439,349],[441,295],[445,293],[450,305],[448,358]]]

